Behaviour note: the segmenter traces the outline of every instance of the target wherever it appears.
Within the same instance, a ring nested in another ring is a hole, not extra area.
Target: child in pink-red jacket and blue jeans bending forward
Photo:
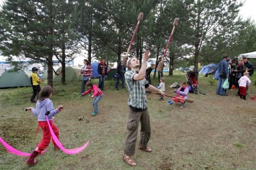
[[[88,93],[90,93],[91,91],[93,92],[93,95],[91,96],[93,99],[93,116],[96,116],[98,114],[98,102],[99,100],[102,98],[103,93],[102,91],[99,89],[98,85],[93,85],[92,82],[88,81],[86,82],[86,86],[88,88],[88,90],[84,93],[82,93],[81,95],[86,95]]]

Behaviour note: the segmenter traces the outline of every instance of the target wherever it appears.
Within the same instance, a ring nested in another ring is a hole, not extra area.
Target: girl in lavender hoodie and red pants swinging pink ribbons
[[[38,130],[39,127],[41,127],[41,129],[43,130],[43,137],[41,142],[35,147],[29,158],[26,160],[25,163],[28,165],[35,165],[37,163],[35,157],[40,155],[41,152],[51,142],[51,133],[47,123],[46,115],[48,116],[54,134],[57,136],[57,138],[59,138],[59,131],[58,128],[53,124],[52,116],[59,113],[63,106],[60,105],[56,109],[53,108],[53,103],[50,100],[50,98],[52,97],[52,88],[49,85],[44,86],[39,92],[38,96],[38,102],[36,103],[35,108],[29,107],[26,108],[26,111],[32,111],[32,113],[38,117]],[[59,148],[53,140],[52,143],[54,145],[54,150],[58,150]]]

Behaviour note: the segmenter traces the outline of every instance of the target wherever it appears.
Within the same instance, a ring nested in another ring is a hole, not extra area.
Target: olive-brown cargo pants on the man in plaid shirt
[[[140,145],[147,147],[151,133],[148,109],[142,112],[134,112],[129,108],[127,122],[128,133],[125,140],[125,154],[128,156],[134,155],[135,153],[139,122],[141,124]]]

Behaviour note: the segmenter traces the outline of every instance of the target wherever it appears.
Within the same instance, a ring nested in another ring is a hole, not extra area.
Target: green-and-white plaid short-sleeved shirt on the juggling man
[[[130,94],[127,104],[134,108],[146,109],[147,97],[145,85],[148,84],[148,82],[145,78],[143,80],[135,81],[133,79],[135,74],[137,74],[136,71],[127,71],[125,73],[125,82]]]

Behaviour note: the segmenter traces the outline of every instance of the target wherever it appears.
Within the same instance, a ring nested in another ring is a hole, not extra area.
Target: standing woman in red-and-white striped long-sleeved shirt
[[[81,93],[84,93],[84,86],[87,81],[90,81],[93,76],[93,68],[90,65],[90,62],[87,59],[84,59],[84,67],[81,69],[81,74],[83,74]]]

